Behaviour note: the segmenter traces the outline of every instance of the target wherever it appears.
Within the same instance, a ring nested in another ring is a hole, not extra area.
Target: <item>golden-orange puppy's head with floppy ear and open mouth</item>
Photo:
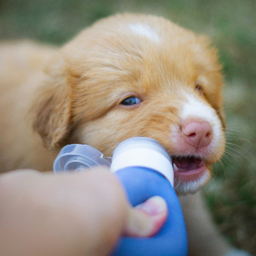
[[[204,36],[161,17],[109,17],[53,58],[34,128],[50,148],[83,143],[104,155],[154,138],[172,156],[176,191],[195,192],[224,151],[220,69]]]

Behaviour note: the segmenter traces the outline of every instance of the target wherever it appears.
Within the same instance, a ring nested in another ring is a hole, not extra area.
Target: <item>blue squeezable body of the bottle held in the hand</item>
[[[153,237],[123,236],[111,256],[185,256],[186,228],[177,195],[166,178],[152,169],[127,167],[115,172],[132,206],[159,195],[166,200],[168,217]]]

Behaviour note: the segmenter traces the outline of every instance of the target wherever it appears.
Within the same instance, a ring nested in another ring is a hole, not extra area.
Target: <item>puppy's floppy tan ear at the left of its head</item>
[[[47,78],[32,109],[35,114],[33,128],[44,145],[54,149],[65,144],[71,131],[70,87],[60,58],[50,63],[46,73]]]

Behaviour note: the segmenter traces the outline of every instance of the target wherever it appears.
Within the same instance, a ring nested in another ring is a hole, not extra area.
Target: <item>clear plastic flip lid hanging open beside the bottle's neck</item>
[[[71,144],[61,149],[53,163],[53,171],[79,172],[92,166],[110,166],[111,157],[103,157],[103,154],[88,145]]]

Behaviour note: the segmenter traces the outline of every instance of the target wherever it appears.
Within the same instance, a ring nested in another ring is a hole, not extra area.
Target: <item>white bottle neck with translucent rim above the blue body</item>
[[[166,177],[173,186],[172,160],[157,140],[135,137],[120,143],[113,152],[111,172],[131,166],[154,169]]]

